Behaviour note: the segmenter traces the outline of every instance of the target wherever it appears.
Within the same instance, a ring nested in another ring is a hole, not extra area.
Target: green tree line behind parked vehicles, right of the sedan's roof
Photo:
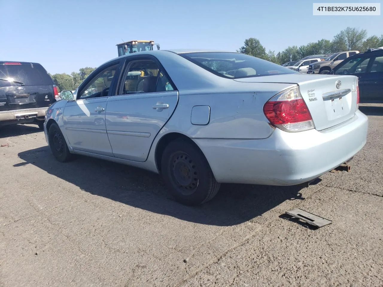
[[[297,61],[309,55],[331,54],[349,50],[367,51],[369,48],[383,46],[383,35],[373,35],[367,38],[367,31],[358,28],[347,27],[334,36],[332,41],[321,39],[306,45],[289,46],[282,52],[275,54],[275,51],[262,46],[257,38],[246,39],[244,45],[237,50],[243,54],[252,55],[276,64],[283,64],[290,61]]]

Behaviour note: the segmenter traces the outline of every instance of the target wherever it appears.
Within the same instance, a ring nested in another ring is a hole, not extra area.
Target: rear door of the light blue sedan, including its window
[[[178,91],[154,57],[128,59],[117,95],[108,99],[106,131],[115,157],[142,162],[172,116]]]

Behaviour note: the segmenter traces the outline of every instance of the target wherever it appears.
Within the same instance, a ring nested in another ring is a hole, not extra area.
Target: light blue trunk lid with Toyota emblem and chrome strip
[[[324,130],[347,121],[354,116],[357,109],[358,78],[355,76],[291,74],[235,80],[298,85],[316,130]]]

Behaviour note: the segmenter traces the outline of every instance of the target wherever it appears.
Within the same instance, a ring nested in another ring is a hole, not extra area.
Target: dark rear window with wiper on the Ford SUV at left
[[[53,85],[43,66],[39,64],[6,65],[0,64],[0,87]],[[13,82],[15,81],[15,82]]]

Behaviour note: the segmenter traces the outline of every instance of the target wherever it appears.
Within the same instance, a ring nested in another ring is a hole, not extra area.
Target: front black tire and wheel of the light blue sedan
[[[65,142],[64,135],[62,134],[59,126],[56,123],[51,124],[48,131],[49,147],[54,157],[60,161],[70,161],[74,156],[69,152],[67,143]]]

